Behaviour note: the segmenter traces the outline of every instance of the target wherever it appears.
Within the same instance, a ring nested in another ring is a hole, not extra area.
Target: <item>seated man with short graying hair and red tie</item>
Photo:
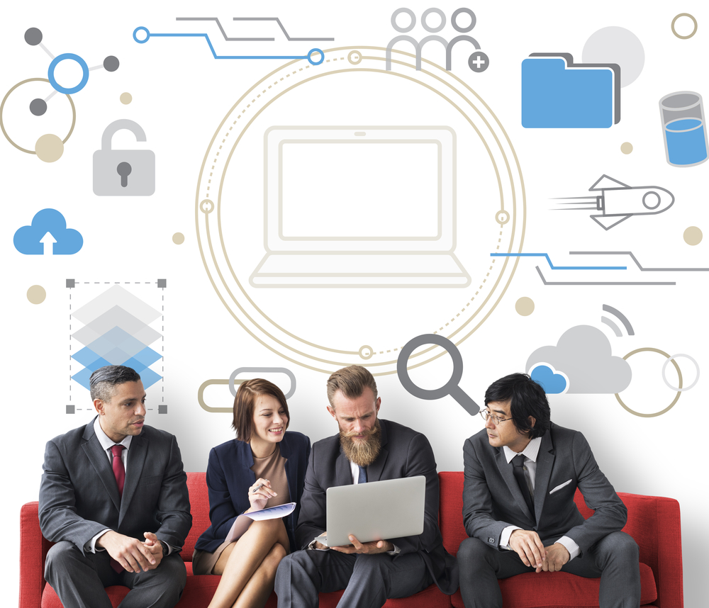
[[[179,556],[192,525],[174,436],[145,426],[145,390],[125,366],[91,374],[92,422],[48,441],[40,484],[42,534],[56,543],[45,579],[65,608],[172,608],[186,583]]]

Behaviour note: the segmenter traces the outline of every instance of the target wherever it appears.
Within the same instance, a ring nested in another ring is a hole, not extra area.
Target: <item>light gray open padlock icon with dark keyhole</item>
[[[145,131],[133,120],[114,120],[101,135],[101,150],[94,152],[94,194],[98,196],[150,196],[155,192],[155,152],[112,150],[113,134],[128,129],[138,142]]]

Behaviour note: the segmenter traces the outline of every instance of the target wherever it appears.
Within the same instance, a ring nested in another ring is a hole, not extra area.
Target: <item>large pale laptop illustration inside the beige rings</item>
[[[254,287],[465,287],[446,126],[274,126]]]

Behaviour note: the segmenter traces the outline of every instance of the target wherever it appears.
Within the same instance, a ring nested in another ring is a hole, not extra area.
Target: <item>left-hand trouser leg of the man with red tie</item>
[[[61,541],[48,551],[45,580],[65,608],[111,608],[104,587],[119,584],[105,551],[84,555],[69,541]]]

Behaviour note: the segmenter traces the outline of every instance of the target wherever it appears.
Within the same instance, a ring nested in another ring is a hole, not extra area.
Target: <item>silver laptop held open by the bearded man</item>
[[[328,488],[327,536],[330,547],[423,534],[426,478],[423,475]]]

